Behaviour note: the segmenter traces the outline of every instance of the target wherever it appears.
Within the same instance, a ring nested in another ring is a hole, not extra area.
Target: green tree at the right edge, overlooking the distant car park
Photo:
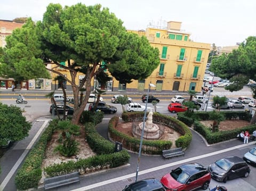
[[[248,37],[238,49],[214,59],[210,70],[230,80],[231,85],[225,87],[230,92],[242,89],[249,79],[256,80],[256,37]]]

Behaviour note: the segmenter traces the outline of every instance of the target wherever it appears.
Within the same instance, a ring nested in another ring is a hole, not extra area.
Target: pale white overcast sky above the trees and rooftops
[[[165,27],[168,21],[179,21],[192,40],[216,46],[232,46],[256,36],[255,0],[7,0],[1,2],[0,19],[31,17],[38,21],[50,3],[71,6],[80,2],[108,7],[131,30],[145,30],[149,23]]]

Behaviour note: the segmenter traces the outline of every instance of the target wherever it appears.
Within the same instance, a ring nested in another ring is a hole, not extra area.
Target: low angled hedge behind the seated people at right
[[[219,143],[225,140],[236,138],[236,136],[241,131],[245,131],[245,130],[249,131],[251,134],[255,130],[255,128],[256,128],[256,125],[253,124],[251,126],[246,126],[242,128],[233,129],[233,130],[212,132],[210,128],[205,127],[199,121],[194,122],[194,130],[196,130],[197,132],[199,132],[199,134],[204,136],[204,138],[207,140],[209,144]]]

